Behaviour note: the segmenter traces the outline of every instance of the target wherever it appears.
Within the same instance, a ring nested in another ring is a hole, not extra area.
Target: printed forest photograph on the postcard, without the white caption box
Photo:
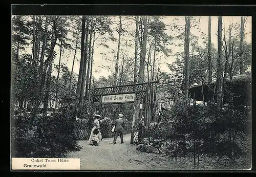
[[[13,15],[11,25],[12,158],[251,169],[251,16]]]

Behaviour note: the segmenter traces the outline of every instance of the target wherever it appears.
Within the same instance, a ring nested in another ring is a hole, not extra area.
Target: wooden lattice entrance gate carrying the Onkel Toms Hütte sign
[[[150,125],[148,98],[151,86],[154,83],[157,82],[89,89],[93,112],[101,112],[101,110],[96,109],[102,109],[104,105],[132,103],[134,112],[138,114],[133,116],[130,123],[126,124],[125,132],[126,134],[131,133],[131,144],[139,142],[146,135],[146,132],[143,131],[145,130],[144,125]],[[136,105],[139,105],[139,107]],[[142,117],[145,117],[145,120],[141,119]]]

